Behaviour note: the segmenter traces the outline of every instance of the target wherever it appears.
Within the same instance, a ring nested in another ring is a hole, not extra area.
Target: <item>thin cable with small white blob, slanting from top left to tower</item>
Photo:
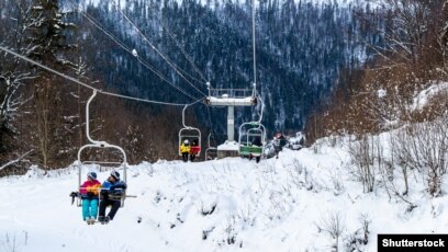
[[[108,35],[113,42],[115,42],[120,47],[122,47],[125,51],[130,53],[131,55],[133,55],[134,57],[137,58],[137,60],[145,66],[148,70],[150,70],[152,72],[154,72],[156,76],[158,76],[163,81],[167,82],[168,84],[172,85],[175,89],[177,89],[178,91],[180,91],[181,93],[183,93],[184,95],[191,98],[192,100],[197,100],[197,98],[193,98],[192,95],[190,95],[189,93],[187,93],[184,90],[182,90],[181,88],[177,87],[176,84],[173,84],[171,81],[168,80],[167,77],[165,77],[163,73],[158,72],[156,69],[154,69],[148,62],[146,62],[145,60],[143,60],[141,57],[138,57],[138,55],[135,55],[135,53],[133,53],[133,50],[131,50],[131,48],[128,48],[122,41],[120,41],[117,37],[115,37],[111,32],[109,32],[107,28],[104,28],[98,21],[96,21],[93,18],[89,16],[87,13],[83,13],[82,10],[80,10],[79,8],[75,7],[72,3],[71,5],[82,15],[85,16],[90,23],[92,23],[97,28],[99,28],[101,32],[103,32],[105,35]]]

